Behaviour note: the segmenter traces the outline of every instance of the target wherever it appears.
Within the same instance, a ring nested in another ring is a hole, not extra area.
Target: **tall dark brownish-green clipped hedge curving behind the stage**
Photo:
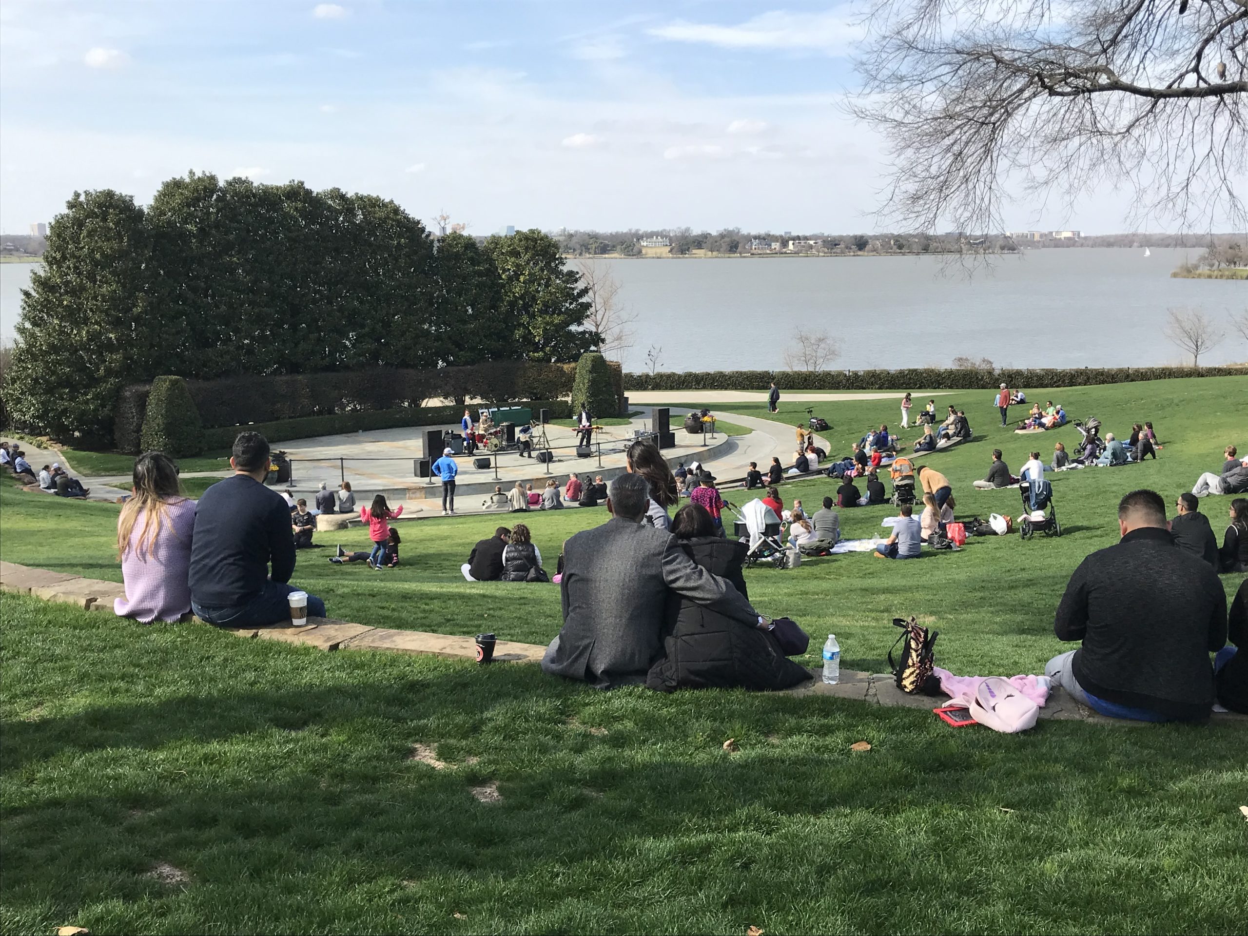
[[[617,397],[622,397],[620,367],[614,363],[609,367]],[[457,402],[464,398],[498,403],[558,401],[572,392],[575,368],[575,364],[495,361],[424,371],[374,368],[280,377],[240,376],[188,381],[187,388],[203,426],[216,428],[306,417],[411,412],[437,397]],[[114,411],[114,439],[119,452],[141,451],[141,427],[150,392],[147,384],[132,384],[119,394]],[[300,436],[283,434],[283,438]]]

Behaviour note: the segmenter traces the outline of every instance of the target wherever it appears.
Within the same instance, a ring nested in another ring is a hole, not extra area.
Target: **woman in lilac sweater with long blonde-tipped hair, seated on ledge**
[[[195,502],[182,494],[173,461],[149,452],[135,461],[132,494],[117,518],[117,558],[126,597],[112,603],[119,618],[150,624],[191,610],[191,534]]]

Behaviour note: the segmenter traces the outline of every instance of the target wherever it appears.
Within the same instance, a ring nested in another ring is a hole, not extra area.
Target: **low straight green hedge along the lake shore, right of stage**
[[[1031,387],[1091,387],[1172,377],[1248,376],[1246,367],[1080,367],[973,371],[970,368],[909,368],[902,371],[690,371],[686,373],[628,373],[629,391],[765,391],[771,381],[780,389],[916,391],[996,389],[997,384]]]

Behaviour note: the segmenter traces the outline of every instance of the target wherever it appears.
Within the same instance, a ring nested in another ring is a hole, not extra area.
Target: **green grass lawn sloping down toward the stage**
[[[750,570],[754,603],[816,649],[835,630],[852,669],[881,671],[890,619],[919,614],[941,631],[940,665],[1038,671],[1065,649],[1066,579],[1117,538],[1121,494],[1172,503],[1224,444],[1248,447],[1248,378],[1055,393],[1113,432],[1152,419],[1166,444],[1156,463],[1058,475],[1068,535]],[[995,428],[990,396],[957,401],[976,441],[930,457],[960,517],[1018,512],[1017,490],[970,489],[992,446],[1017,469],[1033,446],[1077,437]],[[816,412],[847,451],[894,409]],[[782,495],[814,505],[831,488]],[[1202,502],[1219,532],[1229,500]],[[846,510],[842,528],[871,535],[889,513]],[[5,487],[0,558],[120,580],[116,514]],[[524,522],[553,568],[563,539],[603,519]],[[459,575],[472,542],[513,520],[401,522],[402,568],[336,567],[326,548],[300,554],[295,582],[349,620],[542,643],[559,626],[555,587]],[[1232,594],[1243,577],[1223,578]],[[829,698],[602,694],[534,666],[324,654],[2,600],[5,931],[1231,932],[1248,906],[1242,724],[1002,736]],[[872,750],[851,754],[857,740]],[[408,760],[413,744],[448,766]],[[473,797],[487,784],[500,802]],[[190,880],[150,879],[160,862]]]

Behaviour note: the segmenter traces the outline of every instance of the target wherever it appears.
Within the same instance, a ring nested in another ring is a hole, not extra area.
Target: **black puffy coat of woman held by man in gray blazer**
[[[705,537],[678,544],[698,565],[728,579],[746,595],[741,563],[746,547]],[[663,656],[650,666],[645,684],[675,689],[787,689],[810,674],[780,650],[775,638],[678,595],[668,600]]]

